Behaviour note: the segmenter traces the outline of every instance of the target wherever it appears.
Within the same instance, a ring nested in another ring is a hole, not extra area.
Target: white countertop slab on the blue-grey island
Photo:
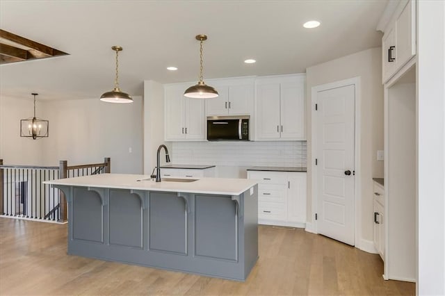
[[[66,186],[203,193],[210,195],[241,195],[245,190],[257,184],[256,181],[250,179],[226,178],[200,178],[194,182],[162,181],[156,183],[155,181],[150,181],[148,175],[143,174],[95,174],[92,176],[78,176],[44,181],[43,183]]]

